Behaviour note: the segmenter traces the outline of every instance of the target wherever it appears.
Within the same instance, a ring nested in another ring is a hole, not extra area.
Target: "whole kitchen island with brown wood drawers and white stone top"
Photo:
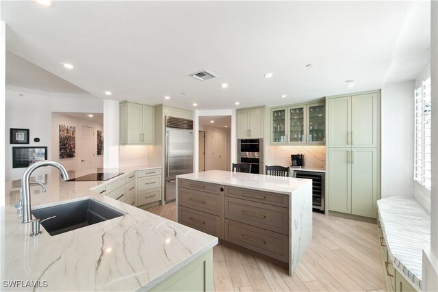
[[[178,222],[294,273],[312,238],[311,180],[209,170],[177,187]]]

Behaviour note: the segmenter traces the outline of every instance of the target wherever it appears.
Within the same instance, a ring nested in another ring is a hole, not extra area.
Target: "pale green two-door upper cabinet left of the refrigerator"
[[[120,103],[120,144],[155,144],[155,108],[140,103]]]

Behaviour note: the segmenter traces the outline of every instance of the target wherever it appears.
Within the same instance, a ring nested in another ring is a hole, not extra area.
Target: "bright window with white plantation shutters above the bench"
[[[430,190],[432,178],[432,159],[431,159],[431,96],[430,83],[432,79],[428,77],[421,82],[419,88],[415,90],[415,153],[414,153],[414,180],[420,185]]]

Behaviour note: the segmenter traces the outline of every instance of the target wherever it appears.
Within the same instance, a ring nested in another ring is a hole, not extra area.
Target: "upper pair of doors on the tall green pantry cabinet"
[[[378,146],[377,93],[330,98],[330,147]]]

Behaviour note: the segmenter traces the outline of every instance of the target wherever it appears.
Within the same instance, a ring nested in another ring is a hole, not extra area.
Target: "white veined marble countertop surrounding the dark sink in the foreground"
[[[147,168],[118,171],[128,174]],[[33,185],[33,207],[90,197],[126,213],[53,237],[42,226],[41,235],[29,236],[31,224],[21,224],[14,208],[19,182],[8,182],[6,206],[0,208],[1,280],[47,281],[45,289],[36,289],[45,291],[147,290],[218,243],[216,237],[88,190],[117,178],[120,176],[106,182],[64,182],[55,170],[44,176],[46,193]]]

